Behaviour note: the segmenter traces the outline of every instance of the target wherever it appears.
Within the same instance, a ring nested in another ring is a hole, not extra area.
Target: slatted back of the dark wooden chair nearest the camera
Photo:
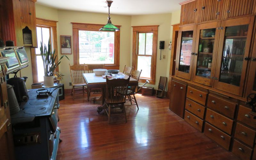
[[[128,79],[109,80],[107,78],[107,83],[106,83],[107,102],[109,103],[125,102],[129,81],[130,81],[130,76]]]

